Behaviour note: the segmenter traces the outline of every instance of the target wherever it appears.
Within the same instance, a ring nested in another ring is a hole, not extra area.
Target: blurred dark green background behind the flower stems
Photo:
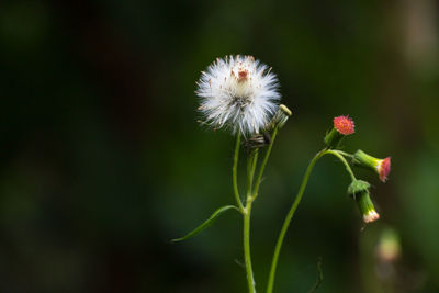
[[[263,292],[274,240],[335,115],[345,150],[392,156],[362,228],[349,177],[318,162],[285,238],[277,292],[439,291],[438,3],[407,1],[2,1],[0,291],[245,292],[234,138],[200,127],[195,80],[216,57],[273,67],[293,117],[254,205]],[[241,169],[245,164],[241,161]],[[243,176],[241,176],[243,178]],[[375,253],[384,227],[402,255]],[[381,266],[381,267],[380,267]]]

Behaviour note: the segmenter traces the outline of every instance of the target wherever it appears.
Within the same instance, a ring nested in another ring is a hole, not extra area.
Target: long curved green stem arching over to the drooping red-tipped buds
[[[317,160],[319,158],[322,158],[323,156],[325,156],[326,154],[330,154],[330,155],[334,155],[337,158],[339,158],[342,161],[342,164],[345,165],[346,170],[350,174],[351,179],[353,181],[357,180],[354,174],[353,174],[353,172],[352,172],[352,170],[351,170],[351,168],[350,168],[350,166],[349,166],[349,164],[340,155],[339,150],[333,150],[333,149],[326,149],[325,148],[325,149],[318,151],[317,155],[315,155],[315,157],[311,160],[308,167],[306,168],[305,176],[304,176],[304,178],[302,180],[301,188],[299,189],[299,192],[297,192],[297,195],[295,196],[293,205],[291,206],[291,209],[290,209],[290,211],[289,211],[289,213],[288,213],[288,215],[285,217],[285,221],[283,222],[282,229],[281,229],[281,232],[279,234],[279,238],[278,238],[278,241],[275,244],[274,255],[273,255],[273,259],[272,259],[272,262],[271,262],[271,269],[270,269],[270,274],[269,274],[269,280],[268,280],[268,285],[267,285],[267,293],[272,293],[273,292],[275,268],[278,266],[279,253],[280,253],[281,248],[282,248],[283,238],[285,237],[285,234],[286,234],[286,230],[288,230],[288,228],[290,226],[290,223],[291,223],[291,221],[292,221],[292,218],[294,216],[295,211],[297,210],[299,203],[302,200],[302,196],[303,196],[303,193],[305,191],[306,184],[308,182],[311,172],[312,172],[312,170],[314,168],[314,165],[317,162]]]

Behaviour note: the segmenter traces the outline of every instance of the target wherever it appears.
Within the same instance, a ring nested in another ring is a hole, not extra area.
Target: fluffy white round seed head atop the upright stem
[[[196,84],[204,123],[246,136],[268,125],[281,99],[278,78],[252,56],[216,59]]]

